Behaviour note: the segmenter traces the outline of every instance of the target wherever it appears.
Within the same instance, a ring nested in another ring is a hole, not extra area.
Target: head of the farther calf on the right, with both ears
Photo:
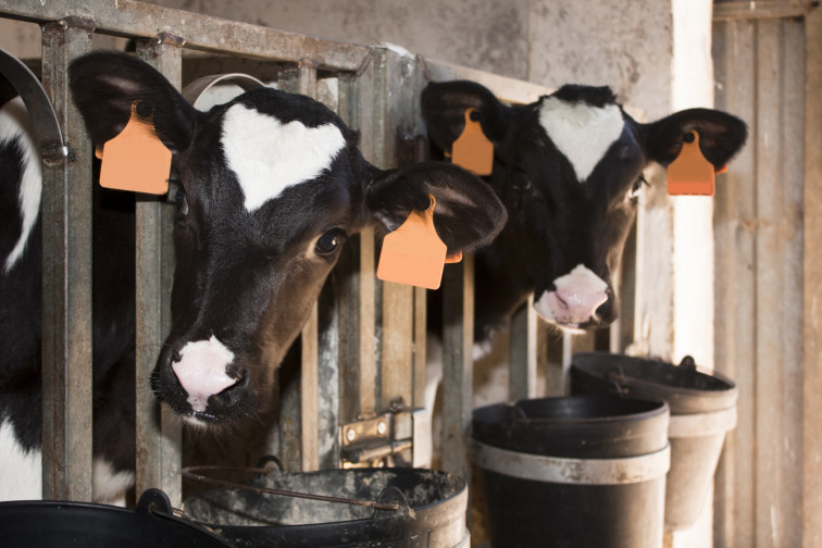
[[[444,151],[462,133],[465,110],[477,111],[494,142],[488,182],[509,216],[499,240],[482,253],[498,256],[488,262],[505,265],[508,283],[523,289],[505,312],[533,291],[539,314],[568,328],[601,327],[616,317],[612,275],[645,184],[643,170],[672,162],[694,129],[705,158],[721,169],[747,135],[742,121],[708,109],[637,123],[608,87],[563,86],[535,103],[510,107],[472,82],[434,83],[422,107],[428,134]]]

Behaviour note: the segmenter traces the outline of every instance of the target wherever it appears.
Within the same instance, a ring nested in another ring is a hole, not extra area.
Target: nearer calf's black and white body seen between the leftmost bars
[[[40,152],[25,105],[0,94],[0,500],[39,498]],[[94,490],[134,482],[134,199],[94,190]]]

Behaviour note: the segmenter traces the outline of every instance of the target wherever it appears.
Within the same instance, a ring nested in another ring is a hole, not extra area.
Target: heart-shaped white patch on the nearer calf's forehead
[[[248,211],[276,198],[287,187],[320,175],[346,145],[342,132],[334,124],[283,124],[242,104],[225,113],[221,140]]]

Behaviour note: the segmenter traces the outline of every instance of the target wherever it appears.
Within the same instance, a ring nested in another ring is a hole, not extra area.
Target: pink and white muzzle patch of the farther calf
[[[555,279],[553,286],[556,290],[545,291],[534,308],[547,321],[569,327],[589,321],[608,300],[608,284],[582,264]]]

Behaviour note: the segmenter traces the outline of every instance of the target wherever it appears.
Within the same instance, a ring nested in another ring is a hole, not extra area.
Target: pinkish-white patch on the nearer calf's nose
[[[188,403],[192,410],[198,413],[205,411],[211,396],[237,382],[225,373],[232,361],[234,352],[214,335],[209,340],[197,340],[183,347],[179,361],[172,363],[172,369],[188,393]]]

